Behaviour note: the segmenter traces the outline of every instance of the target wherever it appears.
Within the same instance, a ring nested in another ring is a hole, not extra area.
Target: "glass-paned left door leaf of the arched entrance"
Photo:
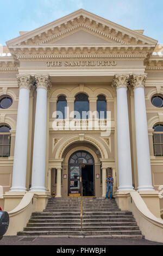
[[[74,165],[70,166],[70,181],[69,183],[69,194],[80,194],[80,176],[81,176],[81,170],[80,166]]]

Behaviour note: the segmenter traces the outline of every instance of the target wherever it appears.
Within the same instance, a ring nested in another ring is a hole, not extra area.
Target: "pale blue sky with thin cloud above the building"
[[[83,8],[163,44],[162,0],[0,0],[0,44]]]

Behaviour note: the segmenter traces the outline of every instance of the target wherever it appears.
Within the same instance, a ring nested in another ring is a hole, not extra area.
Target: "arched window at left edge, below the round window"
[[[0,157],[10,156],[11,128],[8,125],[0,126]]]

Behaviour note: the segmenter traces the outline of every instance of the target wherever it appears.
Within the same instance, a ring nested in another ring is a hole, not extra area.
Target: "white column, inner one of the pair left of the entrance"
[[[47,90],[51,86],[48,75],[35,76],[37,86],[32,187],[31,191],[45,191]]]

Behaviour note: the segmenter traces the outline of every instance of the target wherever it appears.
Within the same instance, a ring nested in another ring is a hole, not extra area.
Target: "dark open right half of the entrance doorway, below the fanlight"
[[[82,166],[83,196],[94,196],[94,171],[92,165]]]

